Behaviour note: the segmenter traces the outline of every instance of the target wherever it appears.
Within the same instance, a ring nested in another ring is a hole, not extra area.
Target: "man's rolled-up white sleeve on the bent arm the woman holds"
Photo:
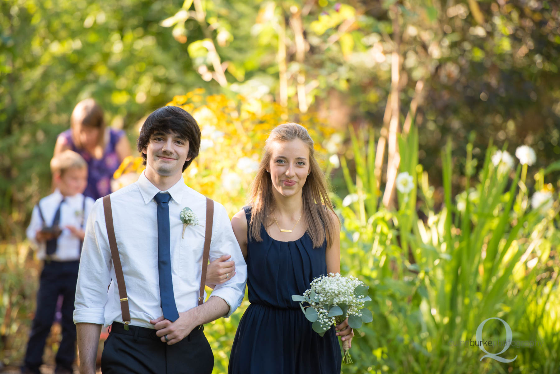
[[[234,235],[226,209],[223,205],[214,203],[214,227],[212,229],[209,257],[213,261],[222,255],[231,255],[230,261],[235,261],[235,272],[237,274],[227,282],[218,284],[214,291],[212,291],[211,296],[222,298],[230,306],[230,310],[224,316],[227,318],[241,305],[245,296],[247,265]]]

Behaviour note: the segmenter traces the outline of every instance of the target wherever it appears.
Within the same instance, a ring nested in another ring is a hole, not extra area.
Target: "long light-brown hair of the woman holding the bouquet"
[[[290,142],[300,139],[309,148],[309,176],[302,188],[302,203],[307,233],[313,241],[313,247],[320,247],[325,242],[330,247],[334,241],[336,226],[331,212],[334,213],[333,204],[328,195],[328,184],[325,173],[315,160],[313,140],[302,125],[286,123],[278,125],[272,130],[264,146],[264,155],[260,161],[259,170],[251,185],[249,205],[251,206],[251,221],[249,223],[249,236],[255,241],[262,241],[260,227],[266,218],[274,212],[274,195],[272,194],[272,180],[267,172],[270,163],[270,144],[272,142]]]

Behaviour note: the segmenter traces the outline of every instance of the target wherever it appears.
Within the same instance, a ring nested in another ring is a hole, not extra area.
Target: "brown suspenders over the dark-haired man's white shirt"
[[[120,264],[119,250],[116,246],[110,195],[106,195],[103,198],[103,210],[105,212],[105,225],[107,227],[111,258],[113,259],[113,267],[115,268],[116,286],[119,289],[120,311],[123,316],[124,329],[128,330],[128,324],[130,323],[130,310],[128,308],[127,286],[124,283],[123,267]],[[204,236],[204,253],[202,256],[202,274],[200,275],[200,296],[198,297],[198,305],[201,305],[204,302],[204,284],[206,283],[206,269],[208,267],[210,242],[212,240],[213,218],[214,202],[212,199],[206,198],[206,235]]]

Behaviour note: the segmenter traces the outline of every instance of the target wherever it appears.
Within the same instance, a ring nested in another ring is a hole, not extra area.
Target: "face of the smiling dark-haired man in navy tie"
[[[160,176],[181,175],[183,165],[190,160],[189,142],[174,132],[153,133],[142,152],[146,155],[146,169]]]

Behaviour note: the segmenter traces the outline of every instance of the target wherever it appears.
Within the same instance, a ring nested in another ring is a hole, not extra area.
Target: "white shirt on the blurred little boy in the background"
[[[52,226],[54,221],[54,214],[64,197],[57,189],[54,193],[39,200],[39,206],[46,222],[43,222],[39,214],[39,209],[35,205],[33,213],[31,213],[31,222],[27,227],[27,238],[35,244],[37,248],[37,256],[40,260],[45,260],[46,255],[46,242],[38,242],[35,237],[37,231],[41,230],[44,226]],[[84,200],[85,209],[84,209]],[[60,205],[60,221],[59,228],[62,230],[57,240],[57,250],[53,255],[48,256],[53,261],[76,261],[80,259],[80,238],[74,236],[66,226],[74,226],[82,228],[83,222],[87,220],[88,214],[94,205],[94,199],[85,197],[82,194],[67,196],[66,200]],[[85,212],[84,212],[85,211]]]

